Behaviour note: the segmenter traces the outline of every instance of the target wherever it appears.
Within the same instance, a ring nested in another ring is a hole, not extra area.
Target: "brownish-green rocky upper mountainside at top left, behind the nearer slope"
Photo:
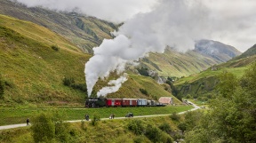
[[[0,0],[0,13],[28,20],[66,37],[82,51],[91,52],[104,38],[112,38],[116,25],[108,21],[77,14],[54,12],[40,7],[28,8],[10,0]]]

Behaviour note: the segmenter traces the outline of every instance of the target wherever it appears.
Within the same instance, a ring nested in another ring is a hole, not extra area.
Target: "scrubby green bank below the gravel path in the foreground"
[[[124,120],[104,120],[81,123],[63,123],[60,116],[54,116],[57,124],[51,124],[51,116],[41,114],[40,117],[46,119],[44,129],[39,131],[33,127],[14,129],[12,131],[0,131],[4,136],[0,137],[3,143],[9,142],[38,142],[46,140],[48,142],[164,142],[171,143],[182,138],[182,133],[177,127],[179,120],[173,120],[172,115],[150,117],[150,118],[127,118]],[[57,117],[57,118],[56,118]],[[59,118],[58,118],[59,117]],[[180,117],[180,116],[178,116]],[[36,118],[34,118],[36,119]],[[38,120],[38,119],[37,119]],[[40,124],[39,124],[40,125]],[[35,123],[36,127],[38,124]],[[54,131],[53,131],[54,130]],[[34,133],[34,134],[33,134]],[[36,138],[36,135],[40,138]],[[43,138],[44,137],[44,138]]]

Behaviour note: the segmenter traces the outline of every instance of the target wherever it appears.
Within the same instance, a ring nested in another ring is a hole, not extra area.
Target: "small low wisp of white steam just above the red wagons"
[[[127,81],[127,75],[124,74],[122,76],[120,76],[118,79],[116,80],[111,80],[108,82],[108,85],[113,85],[113,86],[107,86],[107,87],[103,87],[100,91],[97,92],[97,96],[106,96],[108,93],[112,93],[112,92],[116,92],[119,90],[119,88],[122,86],[122,83],[124,83],[125,81]]]

